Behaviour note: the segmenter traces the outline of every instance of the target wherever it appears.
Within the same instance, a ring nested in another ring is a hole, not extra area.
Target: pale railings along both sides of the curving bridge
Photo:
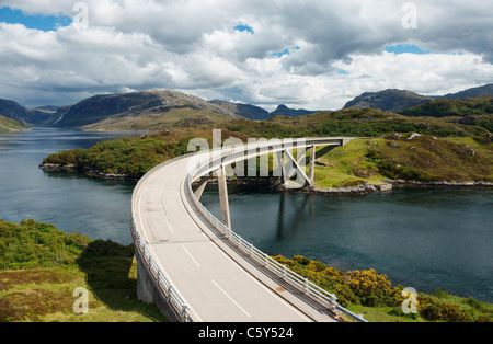
[[[320,139],[317,139],[320,140]],[[310,146],[308,144],[307,146]],[[293,272],[291,270],[287,268],[284,264],[278,263],[274,259],[272,259],[268,254],[260,251],[256,249],[252,243],[248,242],[243,238],[241,238],[239,234],[237,234],[234,231],[232,231],[230,228],[225,226],[219,219],[217,219],[213,214],[210,214],[209,210],[207,210],[204,205],[197,199],[195,196],[192,184],[195,177],[200,176],[200,174],[204,172],[204,167],[207,165],[207,170],[211,169],[214,170],[216,165],[219,168],[222,163],[222,159],[234,154],[234,153],[241,153],[245,150],[251,149],[262,149],[271,147],[268,142],[266,144],[257,144],[255,146],[238,146],[227,149],[216,149],[211,150],[209,152],[195,152],[185,154],[182,157],[173,158],[171,160],[165,161],[164,163],[153,168],[150,170],[137,184],[134,191],[133,199],[135,199],[136,193],[139,190],[139,186],[144,185],[146,181],[149,179],[149,176],[164,168],[168,164],[171,164],[175,161],[188,159],[192,157],[200,158],[199,156],[203,156],[202,159],[197,159],[194,161],[195,163],[188,165],[190,171],[186,175],[186,180],[184,183],[184,193],[187,200],[191,203],[191,205],[199,211],[199,214],[203,215],[203,218],[208,221],[208,225],[218,230],[222,236],[230,240],[233,244],[236,244],[239,249],[243,250],[243,252],[248,255],[250,255],[252,259],[254,259],[257,263],[262,264],[264,267],[266,267],[272,273],[279,276],[279,278],[288,282],[294,287],[298,288],[302,293],[305,293],[307,296],[309,296],[314,301],[319,302],[320,305],[325,306],[331,311],[342,311],[352,319],[358,321],[358,322],[366,322],[364,319],[359,318],[358,316],[352,313],[351,311],[346,310],[342,306],[337,303],[337,298],[334,294],[331,294],[326,291],[325,289],[321,288],[320,286],[313,284],[308,278],[302,277],[301,275]],[[186,300],[183,298],[183,296],[180,294],[180,291],[174,287],[172,280],[167,276],[164,272],[159,267],[156,260],[152,257],[152,254],[150,250],[148,249],[142,234],[140,232],[140,229],[138,227],[138,223],[134,216],[134,209],[133,209],[133,203],[130,205],[130,229],[134,237],[134,241],[136,243],[136,249],[139,251],[140,256],[145,262],[147,263],[148,272],[151,278],[154,280],[154,285],[158,287],[160,294],[163,298],[168,301],[173,312],[176,314],[176,317],[182,322],[193,322],[192,317],[190,316],[190,306],[186,302]]]

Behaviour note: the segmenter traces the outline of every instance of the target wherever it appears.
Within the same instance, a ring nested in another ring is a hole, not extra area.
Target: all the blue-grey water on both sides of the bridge
[[[44,172],[43,158],[136,133],[51,128],[0,133],[0,218],[54,223],[128,244],[135,182]],[[230,190],[233,229],[259,249],[343,271],[376,268],[392,283],[493,302],[493,191],[405,188],[364,197]],[[217,187],[203,203],[219,216]]]

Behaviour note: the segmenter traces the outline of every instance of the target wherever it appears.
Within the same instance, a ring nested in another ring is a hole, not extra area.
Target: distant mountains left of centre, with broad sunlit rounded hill
[[[213,124],[232,118],[264,121],[274,116],[296,117],[313,113],[279,105],[274,112],[250,105],[214,100],[170,90],[101,94],[67,106],[26,108],[0,100],[0,115],[26,126],[54,126],[81,129],[140,130],[172,126]]]

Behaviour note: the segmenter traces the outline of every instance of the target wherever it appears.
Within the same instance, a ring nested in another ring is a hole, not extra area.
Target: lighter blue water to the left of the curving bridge
[[[135,182],[45,172],[38,165],[60,150],[136,135],[54,128],[0,131],[0,218],[18,223],[32,218],[68,233],[129,244],[128,209]]]

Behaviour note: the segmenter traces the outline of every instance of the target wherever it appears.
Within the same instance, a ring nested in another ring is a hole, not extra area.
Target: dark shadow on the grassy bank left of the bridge
[[[142,303],[137,298],[137,264],[134,252],[134,245],[95,240],[88,244],[77,263],[85,272],[90,291],[106,308],[138,312],[153,321],[164,322],[167,319],[157,307]],[[89,308],[92,306],[95,305],[89,305]]]

